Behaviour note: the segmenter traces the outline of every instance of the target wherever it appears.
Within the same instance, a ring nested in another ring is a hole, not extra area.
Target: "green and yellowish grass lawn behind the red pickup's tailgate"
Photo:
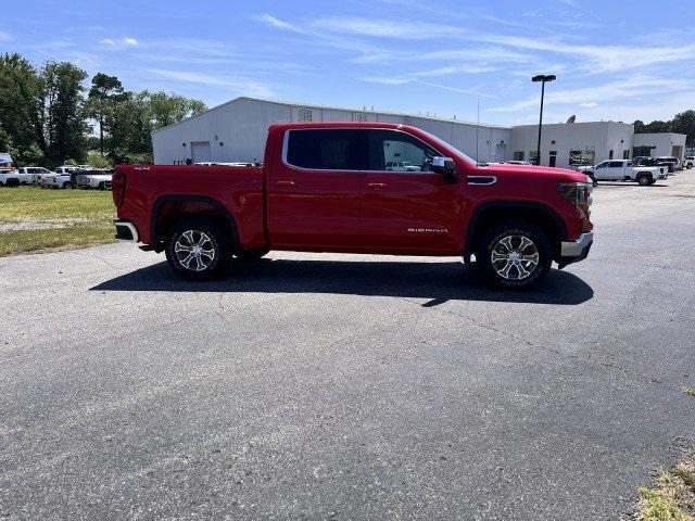
[[[0,188],[0,256],[115,242],[109,191]]]

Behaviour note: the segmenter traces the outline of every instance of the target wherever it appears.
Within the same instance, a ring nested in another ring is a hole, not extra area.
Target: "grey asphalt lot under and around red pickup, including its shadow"
[[[457,259],[0,259],[0,517],[616,519],[695,437],[695,173],[533,293]]]

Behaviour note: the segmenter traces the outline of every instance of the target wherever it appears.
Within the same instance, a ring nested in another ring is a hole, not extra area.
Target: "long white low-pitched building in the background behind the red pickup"
[[[477,125],[414,114],[242,97],[153,132],[154,162],[180,164],[189,161],[225,163],[261,160],[268,127],[293,122],[387,122],[412,125],[484,162],[534,160],[538,145],[538,125]],[[610,157],[629,158],[633,155],[633,147],[640,148],[637,155],[649,155],[642,152],[650,151],[650,155],[677,155],[682,158],[685,136],[664,136],[634,135],[632,125],[614,122],[543,125],[541,163],[570,167]]]

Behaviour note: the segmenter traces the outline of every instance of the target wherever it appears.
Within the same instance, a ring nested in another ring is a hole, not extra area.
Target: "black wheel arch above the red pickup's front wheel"
[[[466,230],[464,258],[470,259],[486,229],[509,219],[528,220],[545,231],[553,247],[553,257],[558,257],[560,242],[567,239],[567,225],[553,208],[534,201],[493,201],[473,209]]]

